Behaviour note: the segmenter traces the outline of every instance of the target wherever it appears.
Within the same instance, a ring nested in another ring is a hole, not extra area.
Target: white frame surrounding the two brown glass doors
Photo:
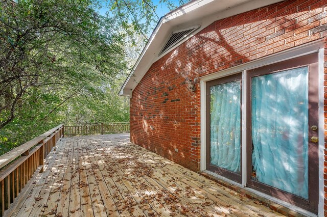
[[[201,147],[200,147],[200,170],[206,170],[206,82],[210,80],[214,80],[217,78],[225,77],[228,75],[236,74],[242,72],[242,144],[246,144],[246,73],[247,70],[258,68],[265,65],[274,64],[277,62],[293,59],[296,57],[308,55],[310,53],[318,52],[319,53],[319,205],[318,205],[318,216],[323,216],[323,203],[324,203],[324,186],[323,186],[323,161],[324,161],[324,117],[323,117],[323,40],[317,40],[314,42],[307,43],[305,45],[300,45],[295,48],[291,48],[274,55],[270,55],[265,58],[261,58],[259,60],[254,60],[239,66],[235,66],[229,69],[221,70],[219,72],[215,72],[209,75],[205,75],[200,77],[200,116],[201,116]],[[245,147],[242,145],[242,147]],[[221,178],[225,181],[228,181],[232,184],[236,184],[241,187],[246,187],[246,148],[242,149],[242,184],[236,183],[227,178],[221,177],[215,173],[205,171],[211,175],[214,175],[218,178]],[[315,214],[296,207],[292,204],[289,204],[285,201],[281,201],[279,199],[273,198],[269,195],[263,194],[261,192],[255,191],[251,188],[247,188],[247,190],[254,192],[258,195],[264,196],[265,198],[274,201],[276,203],[282,204],[285,207],[288,207],[292,210],[296,210],[302,214],[308,216],[316,216]]]

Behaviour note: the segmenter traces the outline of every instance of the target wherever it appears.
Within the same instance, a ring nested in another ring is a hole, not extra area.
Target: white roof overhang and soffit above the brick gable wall
[[[134,88],[162,55],[179,46],[216,20],[230,17],[253,9],[272,5],[283,0],[197,0],[189,2],[161,17],[132,71],[125,80],[119,95],[131,96]],[[191,35],[158,56],[167,38],[173,31],[200,25]]]

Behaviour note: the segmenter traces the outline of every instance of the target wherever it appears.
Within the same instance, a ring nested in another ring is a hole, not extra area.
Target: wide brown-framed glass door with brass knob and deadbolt
[[[248,186],[314,211],[317,54],[248,71]]]

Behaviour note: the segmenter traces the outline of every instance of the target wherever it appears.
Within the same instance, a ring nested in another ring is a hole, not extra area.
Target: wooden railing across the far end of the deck
[[[65,136],[129,132],[129,122],[65,124]]]

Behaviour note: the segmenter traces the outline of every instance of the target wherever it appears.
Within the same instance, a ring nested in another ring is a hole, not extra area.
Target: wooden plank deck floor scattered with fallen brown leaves
[[[277,216],[129,143],[129,134],[63,138],[13,216]]]

